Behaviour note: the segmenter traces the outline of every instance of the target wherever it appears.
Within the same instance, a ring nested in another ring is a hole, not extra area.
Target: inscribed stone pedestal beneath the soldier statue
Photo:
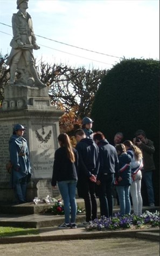
[[[14,200],[10,188],[10,175],[5,170],[9,160],[9,139],[16,123],[26,128],[24,137],[30,150],[31,182],[27,186],[27,199],[57,196],[51,189],[54,152],[59,147],[59,118],[61,110],[51,106],[48,88],[6,85],[3,107],[0,110],[0,201]]]

